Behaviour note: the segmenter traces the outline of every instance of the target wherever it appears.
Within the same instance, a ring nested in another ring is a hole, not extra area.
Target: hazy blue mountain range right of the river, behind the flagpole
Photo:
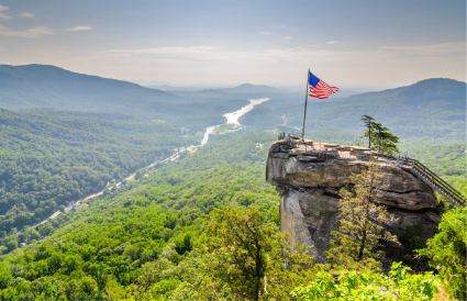
[[[309,101],[307,129],[313,135],[358,138],[360,116],[369,114],[402,137],[464,140],[466,82],[446,78],[421,80],[407,87],[345,98]],[[254,125],[301,129],[303,96],[273,98],[245,118]]]

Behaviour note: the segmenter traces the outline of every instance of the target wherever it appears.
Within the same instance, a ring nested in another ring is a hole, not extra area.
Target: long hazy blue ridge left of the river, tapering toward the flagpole
[[[208,126],[262,97],[266,86],[162,91],[140,85],[73,73],[49,65],[0,65],[0,109],[104,112],[168,120],[184,127]],[[262,91],[263,92],[262,92]]]

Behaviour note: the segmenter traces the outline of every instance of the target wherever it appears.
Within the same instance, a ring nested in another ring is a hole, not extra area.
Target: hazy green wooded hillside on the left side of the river
[[[157,120],[0,110],[0,241],[191,142]]]

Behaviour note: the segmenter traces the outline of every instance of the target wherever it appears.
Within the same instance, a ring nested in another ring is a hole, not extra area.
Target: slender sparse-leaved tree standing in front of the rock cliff
[[[333,239],[326,252],[331,263],[375,268],[379,265],[380,252],[376,252],[379,241],[397,242],[381,225],[388,220],[386,208],[375,202],[375,183],[380,177],[377,166],[370,163],[368,170],[351,176],[352,188],[340,190],[340,225],[332,232]]]

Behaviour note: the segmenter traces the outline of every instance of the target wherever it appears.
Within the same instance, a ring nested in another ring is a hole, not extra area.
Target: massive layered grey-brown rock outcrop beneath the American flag
[[[292,243],[313,246],[319,261],[330,245],[330,232],[337,228],[337,191],[352,185],[353,172],[366,170],[370,150],[335,144],[301,141],[288,136],[269,149],[266,179],[280,193],[282,232]],[[414,265],[413,249],[432,237],[440,222],[433,190],[390,158],[378,158],[382,177],[375,183],[376,202],[387,207],[390,221],[383,226],[402,246],[385,246],[385,260]]]

